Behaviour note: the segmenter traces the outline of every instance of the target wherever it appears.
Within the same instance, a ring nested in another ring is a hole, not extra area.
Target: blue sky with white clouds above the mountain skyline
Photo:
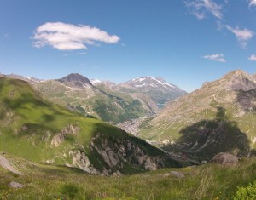
[[[0,0],[0,72],[163,77],[189,92],[256,71],[256,0]]]

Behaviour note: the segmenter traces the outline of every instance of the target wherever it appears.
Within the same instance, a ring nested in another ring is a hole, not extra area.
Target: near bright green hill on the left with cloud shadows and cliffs
[[[91,174],[179,166],[145,141],[49,103],[28,83],[7,77],[0,77],[0,151]]]

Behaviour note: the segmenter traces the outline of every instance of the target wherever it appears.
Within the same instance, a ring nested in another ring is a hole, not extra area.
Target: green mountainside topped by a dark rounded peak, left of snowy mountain
[[[127,95],[108,94],[93,86],[87,77],[79,74],[70,74],[61,79],[35,83],[32,86],[55,103],[106,122],[120,123],[143,117],[149,112],[139,100]]]

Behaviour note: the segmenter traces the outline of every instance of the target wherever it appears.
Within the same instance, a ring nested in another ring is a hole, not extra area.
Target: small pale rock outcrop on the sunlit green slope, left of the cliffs
[[[78,134],[80,131],[79,126],[70,124],[67,127],[61,129],[61,132],[58,134],[55,134],[53,139],[51,140],[50,146],[59,146],[63,140],[65,140],[65,137],[67,134]]]

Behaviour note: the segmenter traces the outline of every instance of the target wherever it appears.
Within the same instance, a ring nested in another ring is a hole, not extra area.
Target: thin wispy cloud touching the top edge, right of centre
[[[206,17],[207,12],[210,12],[218,19],[222,18],[222,7],[212,0],[194,0],[184,2],[189,13],[195,15],[198,20],[202,20]]]

